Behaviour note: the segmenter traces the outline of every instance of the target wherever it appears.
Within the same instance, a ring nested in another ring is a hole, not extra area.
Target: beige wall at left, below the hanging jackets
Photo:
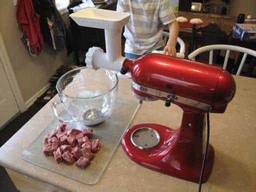
[[[62,64],[72,63],[72,56],[66,52],[57,55],[50,46],[45,47],[38,56],[31,56],[20,41],[20,29],[16,21],[16,6],[12,0],[1,0],[0,3],[0,33],[7,50],[13,71],[23,95],[24,101],[31,98],[44,87]],[[64,17],[66,20],[67,15]]]

